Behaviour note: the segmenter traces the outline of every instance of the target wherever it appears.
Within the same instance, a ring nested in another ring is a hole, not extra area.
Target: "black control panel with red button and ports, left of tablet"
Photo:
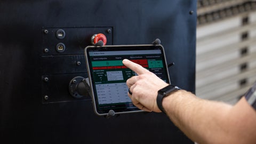
[[[113,27],[42,28],[42,103],[91,99],[72,91],[87,78],[88,45],[113,45]]]

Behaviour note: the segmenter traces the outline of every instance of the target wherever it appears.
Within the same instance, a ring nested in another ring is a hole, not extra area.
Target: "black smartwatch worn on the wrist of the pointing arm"
[[[163,106],[162,106],[162,102],[163,102],[163,98],[166,97],[167,95],[171,94],[172,92],[175,92],[177,90],[180,90],[180,88],[178,86],[174,86],[174,85],[167,85],[165,86],[163,89],[158,91],[157,97],[156,97],[156,103],[158,108],[166,114]]]

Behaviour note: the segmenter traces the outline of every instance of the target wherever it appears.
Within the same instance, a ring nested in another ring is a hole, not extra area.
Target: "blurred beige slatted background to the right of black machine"
[[[197,97],[234,104],[256,81],[256,3],[198,0]]]

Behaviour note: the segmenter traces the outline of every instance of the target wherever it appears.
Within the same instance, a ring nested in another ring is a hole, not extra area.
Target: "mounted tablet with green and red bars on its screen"
[[[127,94],[126,80],[136,74],[123,65],[123,59],[138,63],[170,83],[162,45],[87,46],[85,59],[97,115],[107,115],[110,110],[115,114],[142,111],[133,105]]]

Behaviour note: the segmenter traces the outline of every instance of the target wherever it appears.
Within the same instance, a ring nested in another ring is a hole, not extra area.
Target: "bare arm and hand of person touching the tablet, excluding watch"
[[[138,74],[126,82],[133,104],[142,110],[159,112],[157,91],[167,84],[134,62],[123,60],[123,63]],[[245,98],[230,106],[178,90],[165,97],[162,106],[171,121],[196,142],[247,144],[256,141],[256,111]]]

